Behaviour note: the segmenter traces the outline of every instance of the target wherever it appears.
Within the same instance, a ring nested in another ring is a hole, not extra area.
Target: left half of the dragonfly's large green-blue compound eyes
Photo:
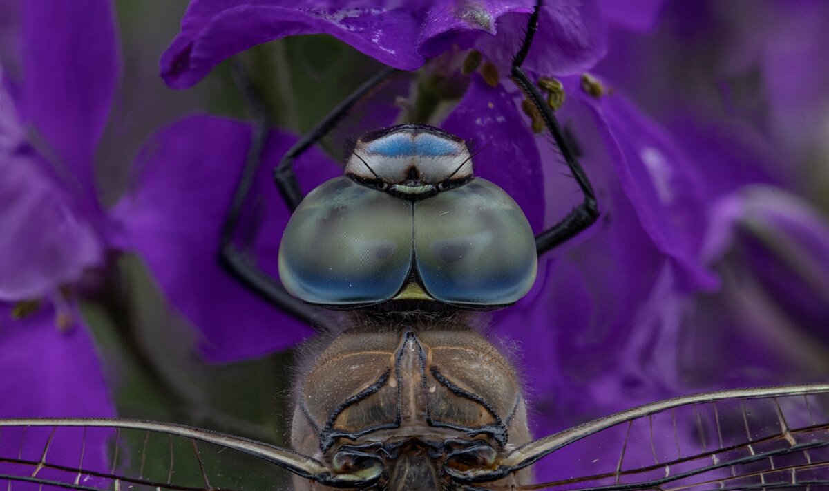
[[[279,278],[313,304],[374,304],[397,294],[411,261],[411,203],[335,177],[288,221]]]

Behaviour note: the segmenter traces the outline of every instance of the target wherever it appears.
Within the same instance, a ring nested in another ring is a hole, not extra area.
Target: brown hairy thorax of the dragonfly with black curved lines
[[[529,441],[514,368],[463,323],[405,319],[334,338],[298,379],[291,445],[332,467],[382,462],[377,489],[463,489],[447,469],[486,466]],[[492,484],[523,484],[524,471]],[[296,489],[327,489],[295,478]]]

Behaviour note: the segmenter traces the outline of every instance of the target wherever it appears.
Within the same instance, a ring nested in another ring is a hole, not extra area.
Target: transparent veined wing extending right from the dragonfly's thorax
[[[825,489],[829,385],[661,401],[536,440],[507,460],[538,460],[543,484],[515,489]]]

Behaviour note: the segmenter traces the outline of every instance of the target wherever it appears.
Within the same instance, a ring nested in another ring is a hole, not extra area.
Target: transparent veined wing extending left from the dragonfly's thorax
[[[289,489],[303,455],[232,435],[132,420],[0,420],[0,489]]]

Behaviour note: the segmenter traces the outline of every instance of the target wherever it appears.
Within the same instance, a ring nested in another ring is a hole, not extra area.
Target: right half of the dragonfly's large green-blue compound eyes
[[[481,178],[414,203],[414,257],[426,291],[448,304],[512,304],[536,280],[530,223]]]

